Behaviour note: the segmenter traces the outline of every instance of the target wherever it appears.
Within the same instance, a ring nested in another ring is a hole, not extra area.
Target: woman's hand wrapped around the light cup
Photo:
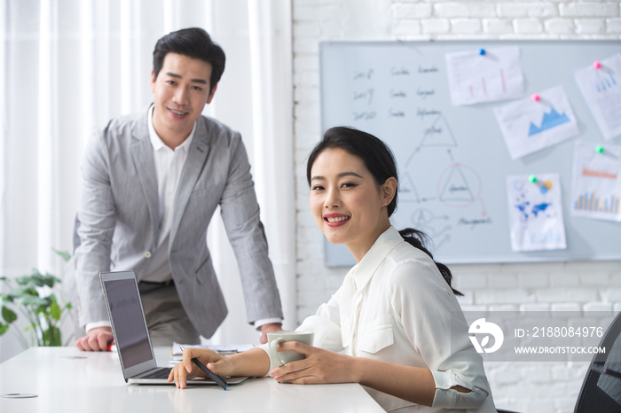
[[[278,351],[295,351],[306,358],[271,370],[270,376],[276,381],[296,385],[358,382],[356,358],[350,355],[339,355],[298,341],[280,343]]]

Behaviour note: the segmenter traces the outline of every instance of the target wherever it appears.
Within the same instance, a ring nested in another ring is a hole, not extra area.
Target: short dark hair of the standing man
[[[220,46],[214,43],[208,33],[200,27],[182,28],[163,36],[155,43],[153,49],[153,73],[155,79],[160,74],[164,58],[169,53],[177,53],[188,58],[199,58],[211,64],[211,78],[209,79],[209,93],[220,82],[224,72],[226,57]]]

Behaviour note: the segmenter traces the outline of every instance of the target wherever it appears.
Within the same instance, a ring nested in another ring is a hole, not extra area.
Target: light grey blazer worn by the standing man
[[[140,278],[157,247],[161,222],[147,110],[114,119],[92,136],[81,182],[80,245],[67,291],[76,288],[85,325],[108,319],[99,272],[133,269]],[[169,263],[185,312],[207,338],[227,313],[207,247],[218,205],[240,268],[248,323],[282,318],[246,148],[238,132],[200,116],[177,184]]]

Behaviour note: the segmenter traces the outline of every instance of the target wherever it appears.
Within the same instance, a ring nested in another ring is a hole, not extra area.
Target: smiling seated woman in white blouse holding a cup
[[[200,375],[191,362],[198,357],[224,376],[269,371],[279,382],[359,383],[387,411],[495,412],[451,271],[433,261],[424,234],[390,225],[398,178],[388,146],[356,129],[328,129],[309,156],[307,178],[318,228],[358,261],[296,329],[314,333],[313,347],[280,344],[305,355],[284,366],[271,362],[267,347],[228,357],[186,350],[169,381],[183,388],[187,374]]]

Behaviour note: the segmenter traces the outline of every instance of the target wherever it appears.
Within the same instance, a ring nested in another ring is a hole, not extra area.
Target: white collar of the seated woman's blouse
[[[366,287],[375,271],[380,267],[381,262],[384,261],[390,251],[402,242],[404,242],[404,238],[401,237],[399,231],[392,225],[375,240],[371,249],[366,252],[362,260],[352,269],[351,277],[357,291],[361,291]]]

